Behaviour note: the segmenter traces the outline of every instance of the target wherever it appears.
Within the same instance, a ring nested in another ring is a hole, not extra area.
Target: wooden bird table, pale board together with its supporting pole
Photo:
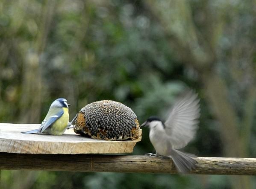
[[[137,140],[94,140],[74,133],[62,136],[21,134],[39,124],[0,123],[0,170],[177,173],[170,158],[131,153]],[[256,175],[256,158],[196,157],[190,174]]]

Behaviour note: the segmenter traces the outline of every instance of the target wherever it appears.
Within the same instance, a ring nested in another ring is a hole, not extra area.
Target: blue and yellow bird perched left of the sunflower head
[[[21,132],[23,134],[32,134],[32,133],[46,133],[52,135],[62,135],[65,130],[71,125],[69,121],[67,100],[64,98],[59,98],[53,101],[51,104],[47,115],[44,118],[44,121],[41,123],[40,128]]]

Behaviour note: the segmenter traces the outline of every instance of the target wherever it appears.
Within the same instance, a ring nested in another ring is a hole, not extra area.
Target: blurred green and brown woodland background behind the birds
[[[201,117],[184,150],[256,157],[255,0],[0,1],[0,122],[40,123],[58,97],[71,117],[111,99],[140,123],[165,119],[186,87]],[[133,154],[149,152],[144,129]],[[251,189],[256,177],[2,170],[1,188]]]

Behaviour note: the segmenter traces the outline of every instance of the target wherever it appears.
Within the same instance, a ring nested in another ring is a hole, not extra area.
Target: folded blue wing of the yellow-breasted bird
[[[45,129],[50,127],[54,122],[56,122],[57,119],[59,119],[64,113],[64,110],[62,108],[58,108],[56,110],[51,110],[51,115],[47,113],[47,116],[45,117],[44,121],[41,123],[41,130],[40,133],[44,132]]]

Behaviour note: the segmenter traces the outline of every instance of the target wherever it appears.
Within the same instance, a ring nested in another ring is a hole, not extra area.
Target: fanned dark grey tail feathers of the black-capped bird
[[[197,163],[197,161],[194,160],[193,157],[196,156],[175,149],[171,150],[171,158],[174,161],[177,170],[181,173],[188,173],[192,169],[195,169],[195,163]]]

